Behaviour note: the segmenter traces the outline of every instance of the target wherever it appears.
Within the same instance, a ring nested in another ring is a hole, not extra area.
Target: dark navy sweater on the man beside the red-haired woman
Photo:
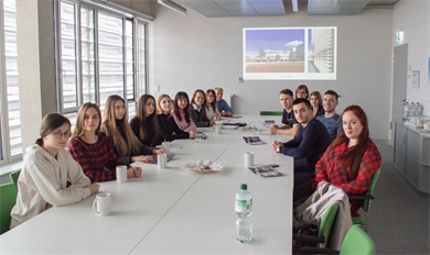
[[[313,119],[305,127],[300,125],[300,131],[294,138],[283,144],[279,153],[295,158],[307,158],[307,166],[315,170],[318,160],[332,143],[329,132],[320,121]]]

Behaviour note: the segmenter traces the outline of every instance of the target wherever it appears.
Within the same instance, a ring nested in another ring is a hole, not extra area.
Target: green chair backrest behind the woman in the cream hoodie
[[[12,182],[0,185],[0,234],[9,230],[10,211],[15,206],[17,193],[17,187]]]

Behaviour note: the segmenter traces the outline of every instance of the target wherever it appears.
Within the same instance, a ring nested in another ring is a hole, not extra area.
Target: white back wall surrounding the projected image
[[[305,1],[300,1],[305,4]],[[391,88],[391,10],[364,10],[359,15],[308,15],[305,7],[286,16],[205,18],[187,9],[187,15],[152,4],[155,21],[149,26],[149,85],[154,96],[192,93],[195,89],[224,87],[234,93],[238,114],[281,110],[279,91],[300,84],[311,91],[337,91],[338,112],[362,106],[369,119],[370,136],[389,138]],[[241,77],[243,27],[337,26],[337,80],[245,81]],[[155,91],[160,85],[161,91]]]

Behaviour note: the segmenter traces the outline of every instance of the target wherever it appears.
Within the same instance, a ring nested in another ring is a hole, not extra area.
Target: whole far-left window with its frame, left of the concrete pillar
[[[20,160],[22,154],[15,0],[1,0],[0,10],[0,165],[4,165]]]

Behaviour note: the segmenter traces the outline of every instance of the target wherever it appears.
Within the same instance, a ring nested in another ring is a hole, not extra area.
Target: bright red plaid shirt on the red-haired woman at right
[[[381,157],[379,151],[376,145],[369,141],[367,143],[367,151],[362,158],[357,176],[354,176],[352,173],[346,173],[344,165],[337,160],[341,154],[343,154],[346,149],[351,149],[346,148],[346,144],[338,145],[335,149],[333,149],[329,154],[325,169],[322,168],[321,160],[316,164],[315,184],[321,180],[326,180],[343,189],[346,193],[364,193],[370,187],[375,171],[380,167]],[[362,203],[362,200],[351,201],[351,214],[353,217],[359,215],[357,210]]]

